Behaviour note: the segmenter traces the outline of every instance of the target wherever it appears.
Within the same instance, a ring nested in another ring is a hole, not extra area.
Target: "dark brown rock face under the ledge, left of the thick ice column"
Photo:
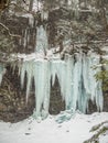
[[[24,90],[20,88],[18,74],[13,74],[9,66],[7,70],[0,87],[0,120],[17,122],[32,114],[34,97],[31,95],[26,103]]]

